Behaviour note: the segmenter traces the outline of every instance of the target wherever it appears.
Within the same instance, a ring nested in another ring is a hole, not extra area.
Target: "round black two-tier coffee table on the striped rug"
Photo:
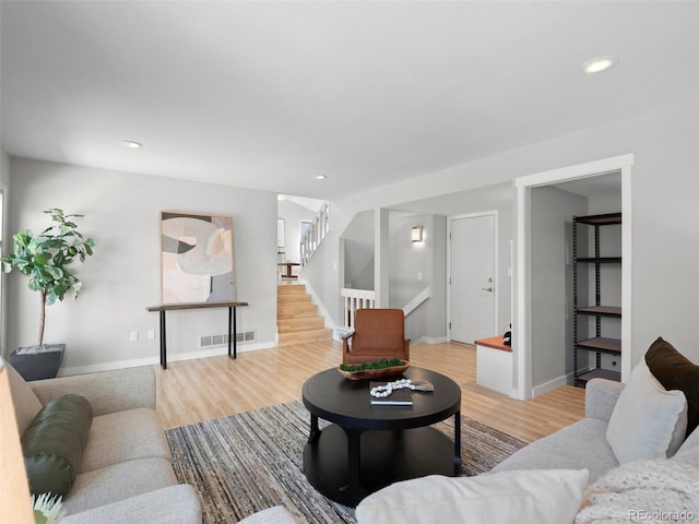
[[[372,407],[369,381],[347,380],[336,369],[321,371],[304,384],[304,405],[310,412],[304,469],[325,497],[354,507],[398,480],[461,473],[461,389],[427,369],[411,367],[401,377],[427,380],[435,391],[414,391],[412,406]],[[452,415],[453,441],[429,427]],[[321,430],[319,418],[334,424]]]

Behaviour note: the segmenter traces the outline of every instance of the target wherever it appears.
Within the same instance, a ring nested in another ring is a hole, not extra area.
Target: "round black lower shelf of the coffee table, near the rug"
[[[353,439],[359,439],[358,449],[356,443],[351,445]],[[358,467],[351,455],[360,457]],[[350,507],[392,483],[426,475],[454,476],[460,466],[454,441],[431,427],[345,433],[330,425],[304,449],[304,471],[310,484]]]

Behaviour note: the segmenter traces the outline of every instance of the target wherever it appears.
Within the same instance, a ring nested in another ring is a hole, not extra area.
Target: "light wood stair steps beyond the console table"
[[[332,338],[332,330],[325,327],[325,321],[318,314],[318,307],[311,302],[306,286],[280,283],[276,289],[280,346]]]

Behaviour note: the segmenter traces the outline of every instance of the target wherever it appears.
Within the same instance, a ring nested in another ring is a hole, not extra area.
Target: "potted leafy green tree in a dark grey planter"
[[[46,210],[54,224],[39,235],[22,229],[12,237],[12,253],[0,258],[2,271],[13,269],[28,277],[28,287],[40,297],[39,332],[36,346],[21,347],[9,356],[10,364],[25,380],[56,377],[63,359],[64,344],[44,344],[46,306],[63,300],[71,291],[76,298],[82,283],[71,264],[92,257],[95,241],[78,230],[74,218],[83,215],[66,214],[58,207]]]

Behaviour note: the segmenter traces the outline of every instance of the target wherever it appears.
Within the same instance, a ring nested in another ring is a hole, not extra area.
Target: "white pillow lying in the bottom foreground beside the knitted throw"
[[[477,477],[428,477],[393,484],[364,499],[358,524],[572,522],[587,469],[530,469]]]

